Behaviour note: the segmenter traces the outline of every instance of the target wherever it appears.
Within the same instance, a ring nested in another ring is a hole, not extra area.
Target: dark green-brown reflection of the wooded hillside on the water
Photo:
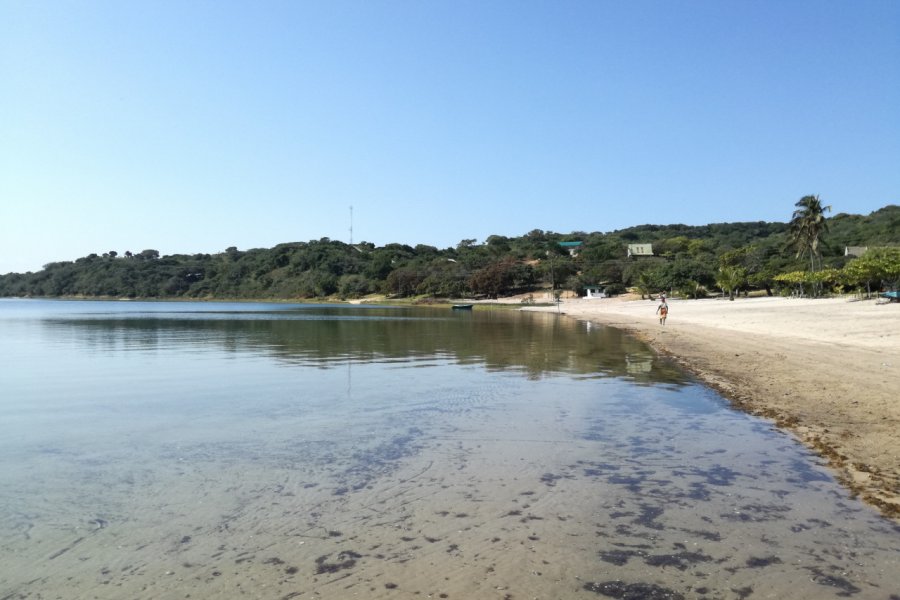
[[[336,367],[347,360],[415,364],[452,359],[551,373],[630,376],[681,382],[683,375],[654,359],[618,330],[555,315],[510,311],[453,312],[428,308],[265,305],[231,311],[189,304],[163,311],[96,312],[42,321],[50,334],[98,351],[184,351],[218,344],[300,365]],[[538,326],[539,325],[539,326]]]

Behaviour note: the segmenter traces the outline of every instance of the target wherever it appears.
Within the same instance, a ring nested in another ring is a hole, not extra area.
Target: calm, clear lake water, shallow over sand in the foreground
[[[0,300],[0,600],[900,599],[900,528],[553,314]]]

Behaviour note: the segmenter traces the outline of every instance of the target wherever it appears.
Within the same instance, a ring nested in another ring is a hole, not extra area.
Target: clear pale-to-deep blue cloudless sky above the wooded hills
[[[0,273],[900,203],[900,2],[0,0]]]

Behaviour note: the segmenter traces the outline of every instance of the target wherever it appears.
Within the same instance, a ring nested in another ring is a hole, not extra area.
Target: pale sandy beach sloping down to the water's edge
[[[792,431],[853,492],[900,519],[900,304],[670,299],[665,326],[657,305],[569,299],[560,311],[645,340],[736,407]]]

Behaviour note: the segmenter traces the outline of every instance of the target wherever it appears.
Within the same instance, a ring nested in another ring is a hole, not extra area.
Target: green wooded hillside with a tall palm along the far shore
[[[896,288],[900,207],[870,215],[836,214],[818,197],[797,203],[788,222],[703,226],[640,225],[613,232],[492,235],[438,249],[419,244],[347,244],[322,238],[274,248],[161,256],[106,251],[50,263],[38,272],[0,275],[0,296],[312,299],[498,297],[538,289],[602,286],[641,294],[669,290],[703,297],[723,290],[823,293]],[[570,251],[564,242],[581,242]],[[628,257],[629,244],[652,256]],[[845,247],[867,246],[863,256]]]

